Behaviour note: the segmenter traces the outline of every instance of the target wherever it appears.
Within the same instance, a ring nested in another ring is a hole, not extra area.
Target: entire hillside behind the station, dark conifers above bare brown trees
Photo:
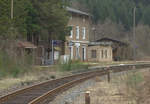
[[[96,39],[109,37],[136,43],[139,57],[150,55],[150,0],[72,0],[74,7],[93,15]],[[133,10],[136,36],[133,39]],[[86,8],[86,9],[85,9]],[[93,40],[93,38],[91,38]]]

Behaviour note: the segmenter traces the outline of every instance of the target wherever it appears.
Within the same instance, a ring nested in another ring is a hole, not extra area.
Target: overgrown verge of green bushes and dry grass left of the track
[[[26,57],[27,62],[22,64],[22,60],[15,61],[6,53],[0,53],[0,90],[11,88],[12,86],[20,86],[26,82],[44,81],[48,79],[60,78],[70,75],[70,71],[87,68],[87,64],[80,61],[69,61],[66,64],[56,66],[41,67],[32,66],[30,58]],[[5,59],[5,60],[4,60]],[[7,83],[6,83],[7,82]]]

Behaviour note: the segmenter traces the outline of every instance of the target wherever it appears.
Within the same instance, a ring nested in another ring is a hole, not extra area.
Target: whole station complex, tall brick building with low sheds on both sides
[[[37,36],[27,36],[27,41],[33,43],[35,53],[35,64],[50,65],[52,60],[71,59],[80,61],[120,61],[127,59],[128,45],[114,39],[101,38],[95,42],[90,42],[93,35],[92,20],[89,13],[67,7],[70,13],[68,27],[70,33],[66,36],[66,41],[57,44],[52,48],[52,41],[41,40]],[[54,44],[53,44],[54,45]],[[30,49],[31,50],[31,49]],[[53,51],[52,51],[53,50]]]

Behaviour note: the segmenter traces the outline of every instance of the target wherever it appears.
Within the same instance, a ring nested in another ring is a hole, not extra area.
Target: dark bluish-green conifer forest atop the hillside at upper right
[[[126,29],[133,26],[133,9],[136,8],[136,24],[150,25],[150,0],[78,0],[86,5],[94,20],[123,24]]]

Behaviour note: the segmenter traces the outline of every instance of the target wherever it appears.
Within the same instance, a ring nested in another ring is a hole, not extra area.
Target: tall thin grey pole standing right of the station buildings
[[[134,7],[134,10],[133,10],[133,58],[134,58],[134,61],[135,61],[135,59],[136,59],[136,40],[135,40],[135,32],[136,32],[136,30],[135,30],[135,25],[136,25],[136,18],[135,18],[135,15],[136,15],[136,7]]]

